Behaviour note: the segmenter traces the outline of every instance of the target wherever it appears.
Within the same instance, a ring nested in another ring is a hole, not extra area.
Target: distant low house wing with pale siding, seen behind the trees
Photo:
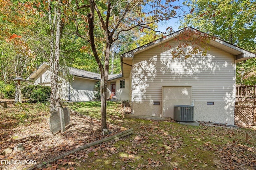
[[[67,81],[63,78],[64,76],[60,76],[58,80],[58,93],[62,100],[72,102],[94,100],[94,93],[96,92],[94,86],[100,80],[100,74],[72,67],[69,67],[68,70],[69,74],[73,76],[73,80]],[[122,74],[110,75],[109,80],[113,81],[119,77],[122,77]],[[34,80],[35,85],[50,86],[50,65],[46,62],[42,63],[27,80]],[[116,97],[120,99],[118,96]]]

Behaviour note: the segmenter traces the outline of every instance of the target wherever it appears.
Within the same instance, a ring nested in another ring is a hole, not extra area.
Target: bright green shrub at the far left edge
[[[15,85],[6,84],[4,81],[0,81],[0,98],[14,99],[15,96]]]

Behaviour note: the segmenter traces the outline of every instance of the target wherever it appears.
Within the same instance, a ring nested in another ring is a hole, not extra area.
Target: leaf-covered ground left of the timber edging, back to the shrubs
[[[71,112],[66,132],[52,135],[48,120],[49,109],[45,104],[8,104],[8,108],[0,109],[0,153],[7,147],[13,149],[18,143],[23,143],[25,147],[24,151],[0,155],[0,170],[21,170],[34,165],[30,160],[42,163],[76,147],[122,131],[120,127],[108,124],[111,134],[103,137],[98,120]],[[21,162],[9,164],[7,161]],[[63,160],[62,164],[72,167],[74,162]]]

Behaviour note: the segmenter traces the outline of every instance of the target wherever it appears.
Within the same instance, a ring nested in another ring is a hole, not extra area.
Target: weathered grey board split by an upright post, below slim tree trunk
[[[65,121],[64,126],[67,126],[70,123],[70,111],[68,110],[68,107],[64,107],[62,109],[63,109],[64,121]],[[53,134],[61,130],[60,113],[58,110],[51,113],[49,120],[50,120],[50,130]]]

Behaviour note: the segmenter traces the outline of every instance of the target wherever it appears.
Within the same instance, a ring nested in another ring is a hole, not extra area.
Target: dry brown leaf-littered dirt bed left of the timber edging
[[[11,104],[8,104],[9,106]],[[49,129],[48,115],[41,114],[40,121],[25,127],[13,127],[12,123],[4,123],[0,120],[0,152],[7,147],[13,149],[18,143],[23,143],[25,147],[24,151],[13,151],[6,156],[0,155],[0,170],[27,168],[125,130],[108,124],[110,134],[102,136],[98,120],[71,111],[71,121],[67,131],[53,135]]]

